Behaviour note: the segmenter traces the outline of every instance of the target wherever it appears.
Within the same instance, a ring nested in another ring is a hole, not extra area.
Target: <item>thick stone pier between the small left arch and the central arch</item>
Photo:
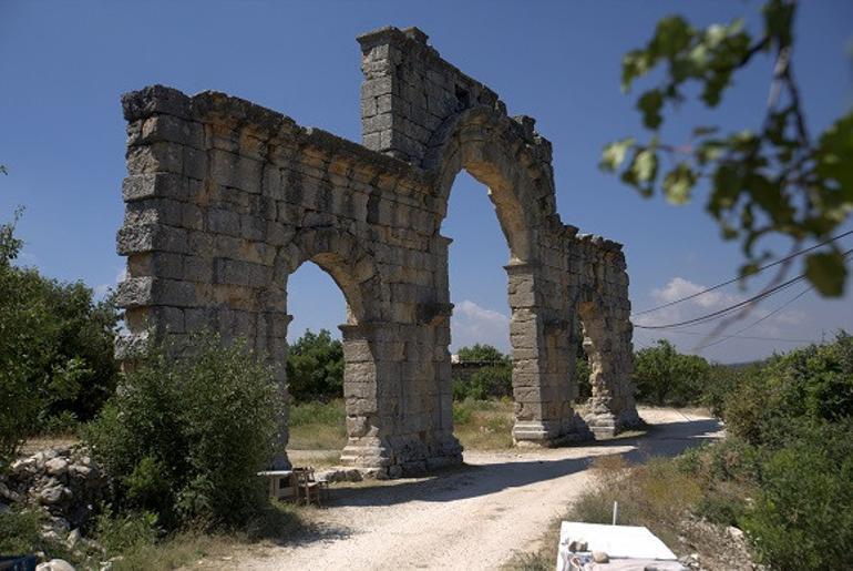
[[[461,463],[452,395],[439,391],[435,381],[434,328],[363,324],[340,329],[348,435],[341,463],[378,478]]]

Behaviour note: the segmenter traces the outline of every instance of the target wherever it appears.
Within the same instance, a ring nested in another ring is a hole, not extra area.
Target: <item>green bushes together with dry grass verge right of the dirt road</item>
[[[670,355],[666,347],[656,347]],[[670,359],[677,360],[677,359]],[[724,440],[672,460],[595,465],[598,486],[566,519],[647,526],[676,548],[689,537],[682,510],[746,531],[769,569],[846,569],[853,545],[853,337],[775,356],[761,366],[711,368],[709,399],[726,421]],[[551,540],[553,537],[553,541]],[[548,551],[517,558],[517,569],[553,565]],[[713,550],[715,545],[708,545]]]

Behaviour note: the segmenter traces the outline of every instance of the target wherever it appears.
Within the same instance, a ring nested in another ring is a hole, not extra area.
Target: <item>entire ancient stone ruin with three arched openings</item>
[[[639,420],[621,246],[556,212],[551,143],[415,28],[361,35],[362,144],[223,93],[151,86],[129,121],[120,286],[135,347],[207,327],[244,336],[285,386],[287,279],[312,261],[345,294],[342,462],[397,476],[461,461],[451,410],[448,245],[456,174],[489,187],[510,261],[518,445]],[[578,319],[593,412],[572,402]],[[121,353],[120,348],[120,353]],[[287,465],[287,419],[277,465]]]

